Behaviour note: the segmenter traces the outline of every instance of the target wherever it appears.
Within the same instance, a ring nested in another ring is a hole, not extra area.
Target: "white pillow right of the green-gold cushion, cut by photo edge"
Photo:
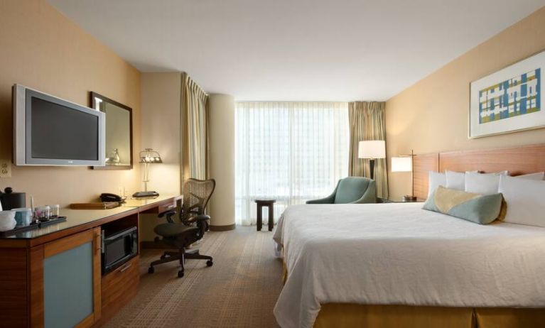
[[[502,175],[499,190],[507,202],[505,222],[545,226],[545,181]]]

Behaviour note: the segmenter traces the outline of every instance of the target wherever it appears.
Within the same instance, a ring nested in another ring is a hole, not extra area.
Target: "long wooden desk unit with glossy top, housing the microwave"
[[[84,317],[74,318],[77,313],[65,310],[68,313],[63,323],[78,327],[102,325],[136,295],[139,284],[139,256],[101,275],[102,226],[130,224],[139,227],[140,214],[172,209],[181,198],[175,195],[128,199],[114,209],[62,209],[60,215],[67,217],[66,222],[0,238],[0,326],[57,326],[50,309],[53,302],[63,301],[61,292],[64,288],[50,286],[58,284],[59,280],[66,283],[67,288],[70,283],[89,287],[88,295],[81,295],[81,304],[75,305],[77,308],[89,307],[82,314]],[[62,262],[63,258],[69,259],[68,262]],[[66,269],[59,271],[61,268]],[[83,270],[83,274],[70,274],[65,281],[60,279],[65,273],[78,270]],[[78,321],[73,322],[74,319]]]

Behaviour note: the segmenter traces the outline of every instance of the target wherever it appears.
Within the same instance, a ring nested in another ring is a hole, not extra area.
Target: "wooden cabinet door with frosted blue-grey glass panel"
[[[91,327],[100,319],[100,227],[31,248],[31,326]]]

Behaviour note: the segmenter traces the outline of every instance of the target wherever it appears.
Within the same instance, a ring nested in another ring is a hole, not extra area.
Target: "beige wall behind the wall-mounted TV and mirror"
[[[140,73],[43,0],[0,1],[0,158],[11,160],[14,83],[89,106],[95,91],[133,109],[140,149]],[[139,189],[134,170],[14,167],[0,187],[33,194],[36,204],[95,200],[101,192]]]

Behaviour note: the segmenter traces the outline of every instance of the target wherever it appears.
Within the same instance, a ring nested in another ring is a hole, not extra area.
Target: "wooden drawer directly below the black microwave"
[[[102,318],[109,319],[138,292],[139,256],[102,276]]]

